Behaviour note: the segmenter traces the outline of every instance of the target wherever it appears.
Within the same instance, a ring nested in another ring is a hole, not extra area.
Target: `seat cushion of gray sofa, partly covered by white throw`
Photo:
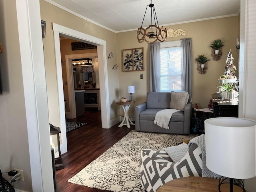
[[[139,118],[140,120],[154,121],[156,113],[160,110],[163,110],[163,109],[146,109],[140,113]],[[184,112],[177,111],[173,113],[170,121],[184,122]]]

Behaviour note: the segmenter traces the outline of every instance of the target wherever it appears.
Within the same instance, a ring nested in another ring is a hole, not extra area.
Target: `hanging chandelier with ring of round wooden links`
[[[142,28],[142,25],[143,25],[144,18],[145,18],[148,7],[150,7],[150,9],[151,9],[151,25],[149,25],[146,29],[144,29],[144,28]],[[153,20],[154,20],[154,25],[153,25]],[[162,26],[162,28],[159,28],[158,20],[156,17],[156,10],[155,10],[154,4],[152,4],[152,0],[151,0],[150,4],[147,5],[147,7],[146,7],[146,11],[145,11],[145,14],[144,14],[144,17],[142,20],[141,27],[138,28],[138,31],[137,31],[138,42],[142,43],[142,42],[146,41],[147,43],[149,43],[149,41],[146,38],[149,38],[149,40],[154,39],[154,42],[156,42],[157,40],[160,42],[163,42],[166,40],[166,37],[167,37],[166,27]]]

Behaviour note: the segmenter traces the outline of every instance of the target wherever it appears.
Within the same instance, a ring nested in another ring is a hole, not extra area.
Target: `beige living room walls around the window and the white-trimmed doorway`
[[[50,122],[58,125],[57,121],[59,118],[52,22],[106,40],[107,55],[110,52],[114,53],[113,58],[107,59],[111,120],[119,116],[120,113],[123,114],[122,108],[116,106],[116,101],[120,97],[128,97],[126,92],[127,85],[135,85],[134,100],[136,104],[130,108],[130,114],[134,115],[134,107],[146,101],[146,93],[149,91],[149,44],[145,42],[142,44],[138,43],[136,31],[115,34],[90,22],[86,22],[43,0],[40,1],[40,5],[42,20],[46,20],[47,25],[44,53]],[[238,64],[238,53],[235,51],[235,37],[238,35],[238,16],[167,26],[167,28],[169,27],[174,29],[182,28],[186,30],[188,35],[168,38],[168,41],[192,38],[192,102],[193,104],[197,103],[199,108],[206,108],[208,107],[211,95],[218,91],[216,85],[218,85],[218,78],[224,73],[226,65],[225,55],[230,48],[232,49],[234,64]],[[222,59],[219,61],[209,61],[207,73],[198,74],[195,58],[199,54],[204,54],[211,59],[211,48],[209,46],[216,39],[221,39],[225,45],[223,47]],[[144,48],[145,70],[122,72],[122,50],[140,47]],[[115,64],[118,64],[118,70],[112,70]],[[143,79],[140,79],[140,74],[144,75]]]

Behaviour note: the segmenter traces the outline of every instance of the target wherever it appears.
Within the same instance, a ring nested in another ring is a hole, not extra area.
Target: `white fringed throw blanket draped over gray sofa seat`
[[[164,110],[158,111],[155,116],[154,124],[157,124],[158,126],[160,126],[162,128],[169,129],[169,122],[172,117],[172,114],[177,111],[179,111],[179,110],[164,109]]]

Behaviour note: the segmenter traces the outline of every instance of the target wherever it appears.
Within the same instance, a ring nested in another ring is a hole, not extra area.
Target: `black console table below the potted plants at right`
[[[215,93],[212,102],[215,117],[238,117],[238,100],[219,99]]]

